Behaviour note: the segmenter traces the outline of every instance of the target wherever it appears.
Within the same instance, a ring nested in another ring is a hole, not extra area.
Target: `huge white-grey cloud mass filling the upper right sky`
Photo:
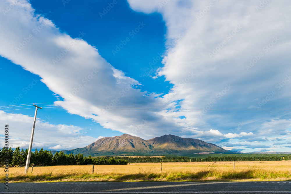
[[[283,118],[290,118],[288,113],[272,114],[265,110],[257,113],[255,108],[260,108],[259,102],[264,102],[261,108],[281,107],[281,102],[290,105],[288,91],[291,84],[286,83],[281,90],[276,88],[276,84],[285,79],[286,72],[291,72],[288,54],[291,48],[291,6],[288,1],[268,1],[259,11],[255,6],[260,1],[213,1],[214,6],[198,19],[197,15],[209,2],[172,0],[162,9],[159,9],[159,1],[128,2],[136,11],[161,13],[167,26],[168,42],[179,35],[163,59],[164,67],[158,75],[165,76],[166,81],[175,85],[172,89],[176,91],[175,95],[169,102],[182,100],[181,108],[195,107],[206,112],[184,112],[186,119],[183,122],[189,129],[188,132],[184,130],[186,134],[190,135],[193,128],[198,128],[204,131],[204,137],[200,134],[192,137],[210,140],[208,134],[243,139],[244,136],[274,136],[285,132],[290,120]],[[272,48],[267,49],[266,45]],[[249,68],[250,60],[258,58],[260,53],[263,56]],[[194,78],[187,84],[181,83],[192,71]],[[226,88],[227,84],[232,87]],[[276,90],[274,95],[273,90]],[[169,95],[165,94],[164,98]],[[272,98],[265,103],[263,99],[270,96]],[[247,109],[253,112],[244,113]],[[281,120],[278,122],[281,127],[263,130],[266,124],[269,126],[268,120],[274,118]],[[229,133],[230,128],[234,129],[242,121],[248,123],[244,132]],[[225,135],[209,131],[214,127]]]

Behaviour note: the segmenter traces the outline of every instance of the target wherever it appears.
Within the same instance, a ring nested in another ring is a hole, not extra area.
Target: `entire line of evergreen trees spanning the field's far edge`
[[[10,147],[8,150],[3,147],[0,149],[0,163],[5,164],[5,159],[9,159],[11,166],[24,166],[26,163],[28,149],[24,150],[17,147],[14,151]],[[64,154],[62,151],[52,154],[51,151],[41,148],[39,151],[31,152],[30,165],[34,166],[52,166],[52,165],[122,165],[130,163],[151,163],[151,162],[217,162],[217,161],[281,161],[291,160],[291,155],[242,155],[228,154],[219,156],[208,156],[205,158],[192,158],[186,156],[169,155],[165,157],[84,157],[83,154]]]

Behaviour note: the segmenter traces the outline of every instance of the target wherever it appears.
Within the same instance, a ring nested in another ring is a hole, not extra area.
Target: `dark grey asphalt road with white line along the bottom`
[[[1,183],[0,193],[291,193],[285,182]]]

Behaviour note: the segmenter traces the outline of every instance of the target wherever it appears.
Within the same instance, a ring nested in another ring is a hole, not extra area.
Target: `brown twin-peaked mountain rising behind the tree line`
[[[181,138],[174,135],[164,135],[150,140],[144,140],[128,134],[115,137],[101,138],[90,145],[63,151],[65,153],[84,156],[113,156],[113,155],[188,155],[199,152],[232,153],[205,141]]]

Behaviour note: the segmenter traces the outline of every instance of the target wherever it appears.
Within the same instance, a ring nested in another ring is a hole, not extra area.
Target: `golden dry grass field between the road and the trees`
[[[43,181],[291,181],[291,161],[131,163],[9,168],[9,182]],[[5,178],[4,168],[0,172]]]

